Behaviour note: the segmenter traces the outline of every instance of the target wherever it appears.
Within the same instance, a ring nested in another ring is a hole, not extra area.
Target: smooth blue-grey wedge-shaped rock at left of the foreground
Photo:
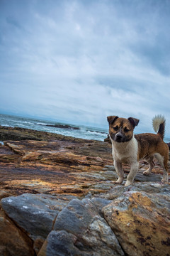
[[[69,199],[60,196],[23,194],[1,200],[1,207],[20,228],[26,230],[31,239],[46,238],[52,230],[58,213],[67,205]]]

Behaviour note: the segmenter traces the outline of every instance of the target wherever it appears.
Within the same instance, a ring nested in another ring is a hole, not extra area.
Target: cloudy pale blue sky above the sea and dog
[[[166,118],[170,0],[0,0],[0,113],[107,127]]]

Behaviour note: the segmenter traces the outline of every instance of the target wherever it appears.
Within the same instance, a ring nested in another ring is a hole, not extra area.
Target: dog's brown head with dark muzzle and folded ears
[[[133,136],[133,130],[140,122],[139,119],[129,117],[120,118],[117,116],[108,117],[109,134],[115,142],[129,142]]]

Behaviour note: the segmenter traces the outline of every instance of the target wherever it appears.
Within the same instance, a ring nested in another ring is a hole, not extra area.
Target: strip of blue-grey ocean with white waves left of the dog
[[[96,139],[103,141],[108,137],[108,129],[88,127],[84,125],[66,124],[62,122],[16,117],[0,114],[0,125],[6,127],[22,127],[37,131],[52,132],[81,139]]]

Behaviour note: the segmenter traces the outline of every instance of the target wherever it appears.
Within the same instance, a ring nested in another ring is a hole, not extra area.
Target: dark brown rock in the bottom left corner
[[[0,255],[35,256],[33,242],[0,210]]]

